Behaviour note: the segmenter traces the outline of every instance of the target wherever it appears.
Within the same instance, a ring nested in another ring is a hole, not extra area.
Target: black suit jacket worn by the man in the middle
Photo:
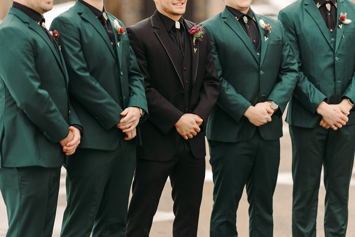
[[[184,20],[186,29],[195,24]],[[186,40],[192,52],[192,93],[186,97],[184,81],[179,76],[176,45],[168,35],[157,11],[150,17],[127,28],[142,75],[148,102],[149,119],[141,125],[142,146],[137,158],[166,161],[178,148],[180,134],[175,129],[184,113],[196,113],[206,122],[219,93],[219,79],[213,64],[207,33],[202,41]],[[190,43],[191,42],[191,43]],[[195,52],[196,49],[196,52]],[[186,111],[185,100],[190,99]],[[196,158],[206,156],[204,129],[189,139]]]

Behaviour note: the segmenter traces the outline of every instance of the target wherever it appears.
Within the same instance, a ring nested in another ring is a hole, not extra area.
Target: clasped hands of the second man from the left
[[[123,117],[116,127],[126,134],[125,140],[131,140],[137,135],[136,126],[141,118],[140,109],[138,107],[128,107],[122,111],[121,115]]]

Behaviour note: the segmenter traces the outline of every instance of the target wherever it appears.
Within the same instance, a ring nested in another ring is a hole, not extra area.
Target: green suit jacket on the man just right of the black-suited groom
[[[274,140],[282,136],[282,113],[296,83],[297,63],[281,22],[254,15],[261,35],[260,53],[228,9],[202,22],[221,81],[217,104],[207,122],[208,139],[249,140],[256,127],[243,114],[250,105],[267,100],[275,101],[279,111],[272,115],[271,122],[259,127],[261,137]],[[267,41],[260,19],[272,27]]]

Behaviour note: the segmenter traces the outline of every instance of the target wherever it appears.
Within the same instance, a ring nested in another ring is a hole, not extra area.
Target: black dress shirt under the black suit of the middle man
[[[185,52],[185,33],[184,31],[185,29],[185,25],[184,25],[184,21],[182,21],[182,16],[180,17],[180,29],[178,29],[179,33],[180,33],[180,38],[181,38],[181,45],[178,42],[178,35],[176,33],[176,28],[175,28],[175,21],[163,14],[161,14],[159,11],[158,12],[158,16],[160,17],[160,19],[162,19],[163,24],[166,28],[166,31],[168,31],[169,37],[171,38],[171,40],[174,42],[174,44],[176,45],[176,47],[178,47],[178,49],[180,50],[182,47],[182,51]]]

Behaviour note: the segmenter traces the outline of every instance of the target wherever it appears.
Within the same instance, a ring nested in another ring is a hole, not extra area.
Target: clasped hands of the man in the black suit
[[[193,138],[196,136],[199,131],[201,131],[200,127],[197,123],[202,123],[203,119],[198,118],[196,114],[184,114],[175,123],[176,131],[185,139]]]

